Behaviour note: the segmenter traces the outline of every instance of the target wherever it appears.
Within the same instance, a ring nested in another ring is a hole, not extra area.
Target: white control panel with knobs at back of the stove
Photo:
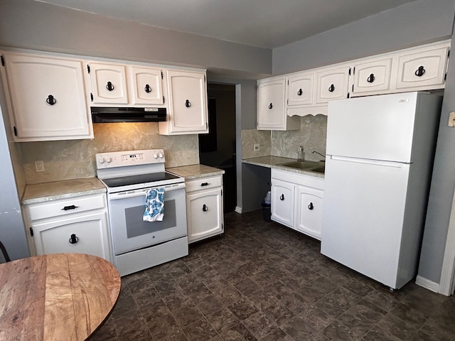
[[[144,149],[142,151],[113,151],[96,154],[97,169],[149,165],[164,163],[163,149]]]

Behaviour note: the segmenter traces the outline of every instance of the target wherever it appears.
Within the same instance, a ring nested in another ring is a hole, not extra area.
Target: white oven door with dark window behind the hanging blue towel
[[[146,191],[129,190],[108,195],[109,218],[116,255],[185,237],[185,183],[164,187],[164,218],[161,222],[144,222]]]

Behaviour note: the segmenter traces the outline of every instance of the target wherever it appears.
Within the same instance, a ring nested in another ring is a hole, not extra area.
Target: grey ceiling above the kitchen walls
[[[36,0],[172,31],[277,48],[416,0]]]

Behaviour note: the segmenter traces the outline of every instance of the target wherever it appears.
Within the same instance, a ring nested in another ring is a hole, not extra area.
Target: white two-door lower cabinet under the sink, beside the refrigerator
[[[321,240],[323,178],[272,169],[272,220]]]

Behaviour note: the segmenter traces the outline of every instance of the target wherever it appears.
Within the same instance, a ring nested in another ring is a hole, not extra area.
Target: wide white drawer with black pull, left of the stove
[[[33,221],[106,208],[105,195],[87,195],[29,205],[28,214]]]

